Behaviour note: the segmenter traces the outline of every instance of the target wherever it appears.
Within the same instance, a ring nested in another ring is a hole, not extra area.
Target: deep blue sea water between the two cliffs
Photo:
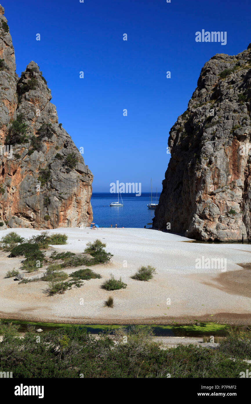
[[[93,222],[100,227],[151,227],[154,218],[154,209],[148,209],[147,204],[151,203],[151,194],[142,193],[141,196],[135,194],[121,194],[124,206],[109,206],[111,202],[118,201],[117,194],[93,193],[91,196],[91,206],[93,210]],[[158,193],[158,200],[160,194]],[[121,202],[121,199],[119,198]],[[153,203],[156,203],[153,196]]]

